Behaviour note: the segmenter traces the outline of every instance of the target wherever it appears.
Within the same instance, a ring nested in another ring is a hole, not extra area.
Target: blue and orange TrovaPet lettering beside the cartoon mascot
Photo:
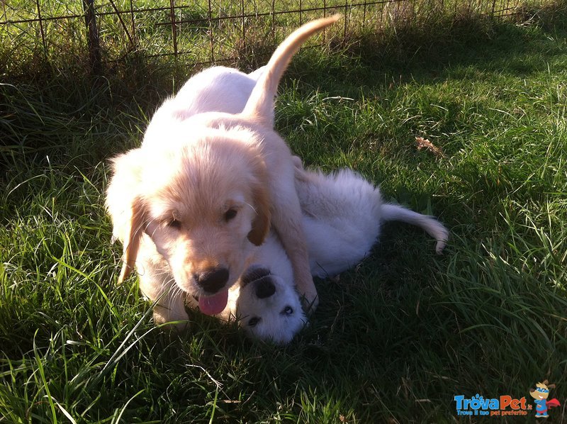
[[[454,401],[456,401],[456,415],[527,415],[528,411],[532,410],[532,405],[525,397],[517,399],[509,395],[498,398],[484,398],[479,394],[472,398],[459,395],[454,397]]]

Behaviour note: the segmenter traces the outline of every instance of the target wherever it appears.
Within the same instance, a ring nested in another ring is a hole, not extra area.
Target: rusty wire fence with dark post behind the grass
[[[94,70],[135,52],[203,65],[235,62],[276,45],[301,23],[342,13],[332,35],[347,38],[464,11],[502,17],[520,0],[2,0],[0,40],[10,63],[72,57]],[[325,40],[329,30],[313,43]],[[318,41],[317,41],[318,40]],[[8,69],[9,70],[9,69]]]

